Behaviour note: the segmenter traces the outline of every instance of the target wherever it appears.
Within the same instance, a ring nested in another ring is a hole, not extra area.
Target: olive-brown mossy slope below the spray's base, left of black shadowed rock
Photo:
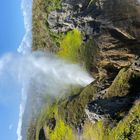
[[[93,96],[97,93],[95,83],[87,86],[79,95],[75,96],[72,100],[65,100],[59,107],[59,112],[65,122],[70,126],[76,127],[86,118],[85,107],[90,102]]]

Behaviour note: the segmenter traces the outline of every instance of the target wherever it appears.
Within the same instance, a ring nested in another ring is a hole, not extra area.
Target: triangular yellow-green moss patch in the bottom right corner
[[[108,140],[140,139],[140,102],[137,102],[129,114],[109,133]]]

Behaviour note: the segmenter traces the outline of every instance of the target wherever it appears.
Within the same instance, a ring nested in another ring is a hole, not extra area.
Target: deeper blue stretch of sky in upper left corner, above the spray
[[[21,0],[0,0],[0,54],[16,51],[23,35],[24,25]]]

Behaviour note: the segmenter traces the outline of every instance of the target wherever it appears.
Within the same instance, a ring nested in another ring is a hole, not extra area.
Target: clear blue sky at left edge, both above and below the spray
[[[24,33],[21,0],[0,0],[0,57],[8,52],[16,53]],[[1,140],[17,139],[16,129],[20,102],[17,93],[19,91],[10,85],[12,85],[12,81],[9,81],[8,85],[4,85],[8,87],[5,92],[2,93],[0,90],[0,97],[3,97],[3,102],[0,102]],[[7,98],[8,96],[10,97]]]

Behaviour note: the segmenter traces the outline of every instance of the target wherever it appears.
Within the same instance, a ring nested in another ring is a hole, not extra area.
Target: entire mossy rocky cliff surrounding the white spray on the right
[[[34,0],[38,49],[80,63],[96,80],[43,111],[30,140],[140,139],[138,0]]]

